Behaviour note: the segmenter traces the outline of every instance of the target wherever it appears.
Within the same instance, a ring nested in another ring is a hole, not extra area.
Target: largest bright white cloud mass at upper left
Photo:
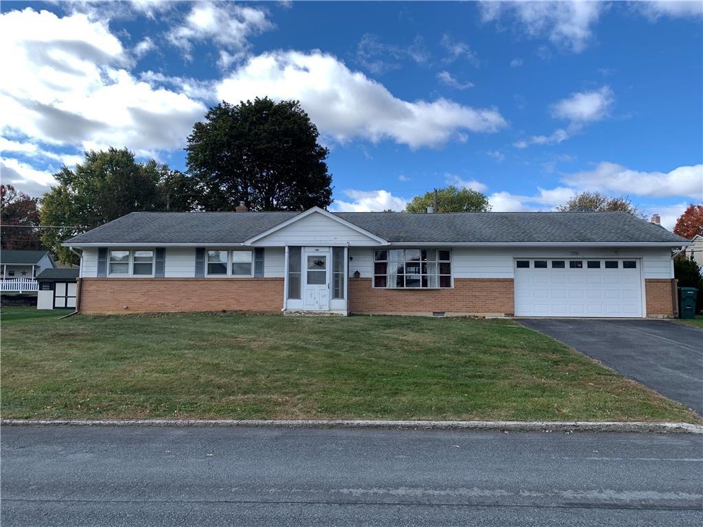
[[[205,112],[183,93],[134,79],[124,69],[130,58],[120,40],[84,14],[9,11],[0,15],[0,46],[6,136],[153,155],[181,147]]]

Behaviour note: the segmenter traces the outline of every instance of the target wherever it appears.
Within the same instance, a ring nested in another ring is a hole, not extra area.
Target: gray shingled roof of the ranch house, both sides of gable
[[[296,212],[133,212],[67,240],[104,243],[241,243]],[[626,212],[338,212],[389,242],[685,242]]]

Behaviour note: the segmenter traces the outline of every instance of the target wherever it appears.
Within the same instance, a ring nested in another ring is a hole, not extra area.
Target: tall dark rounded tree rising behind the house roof
[[[332,202],[317,127],[297,101],[269,98],[210,108],[188,136],[188,171],[207,210],[303,210]]]

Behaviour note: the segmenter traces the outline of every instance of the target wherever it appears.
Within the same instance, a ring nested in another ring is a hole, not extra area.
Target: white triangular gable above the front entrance
[[[253,245],[379,245],[376,240],[318,212],[264,236]]]

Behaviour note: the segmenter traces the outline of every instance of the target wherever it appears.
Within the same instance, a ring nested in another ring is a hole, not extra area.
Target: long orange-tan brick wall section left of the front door
[[[82,278],[81,313],[280,313],[283,278]],[[129,306],[125,309],[124,306]]]

